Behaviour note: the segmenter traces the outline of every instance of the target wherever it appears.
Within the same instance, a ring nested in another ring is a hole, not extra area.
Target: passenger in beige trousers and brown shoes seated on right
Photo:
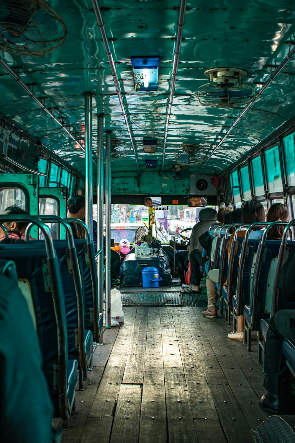
[[[242,209],[237,208],[233,212],[227,213],[224,217],[224,224],[240,224],[243,222]],[[207,309],[202,312],[203,317],[209,319],[217,318],[217,300],[218,293],[215,289],[215,283],[218,281],[219,269],[211,269],[207,274],[206,288],[207,288]]]

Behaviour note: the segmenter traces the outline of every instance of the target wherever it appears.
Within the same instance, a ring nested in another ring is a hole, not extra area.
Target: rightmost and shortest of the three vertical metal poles
[[[106,328],[111,327],[111,131],[106,133]]]

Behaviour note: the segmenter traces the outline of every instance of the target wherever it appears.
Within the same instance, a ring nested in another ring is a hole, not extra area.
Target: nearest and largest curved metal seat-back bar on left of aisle
[[[59,390],[59,406],[62,420],[68,420],[69,400],[67,396],[68,377],[67,377],[67,341],[66,341],[66,324],[64,316],[63,296],[60,286],[60,273],[57,265],[57,258],[54,250],[50,229],[45,223],[37,217],[28,214],[9,214],[0,215],[1,221],[27,221],[33,225],[37,225],[44,234],[45,248],[47,255],[47,265],[50,277],[50,286],[52,299],[54,303],[54,311],[57,323],[57,361],[58,361],[58,390]]]

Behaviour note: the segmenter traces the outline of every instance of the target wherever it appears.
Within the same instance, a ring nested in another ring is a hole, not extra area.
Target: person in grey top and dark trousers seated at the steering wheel
[[[213,208],[204,208],[199,212],[199,222],[192,228],[192,235],[189,241],[189,256],[191,261],[191,283],[192,291],[200,292],[201,271],[199,263],[203,265],[203,261],[207,261],[202,257],[203,247],[199,242],[199,237],[209,230],[210,226],[216,221],[217,211]]]

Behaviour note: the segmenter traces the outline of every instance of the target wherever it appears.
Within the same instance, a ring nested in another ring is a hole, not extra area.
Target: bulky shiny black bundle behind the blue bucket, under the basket
[[[162,281],[160,286],[169,286],[172,283],[169,259],[167,256],[149,259],[135,259],[134,254],[126,255],[120,268],[120,280],[123,286],[142,286],[142,269],[157,268]]]

